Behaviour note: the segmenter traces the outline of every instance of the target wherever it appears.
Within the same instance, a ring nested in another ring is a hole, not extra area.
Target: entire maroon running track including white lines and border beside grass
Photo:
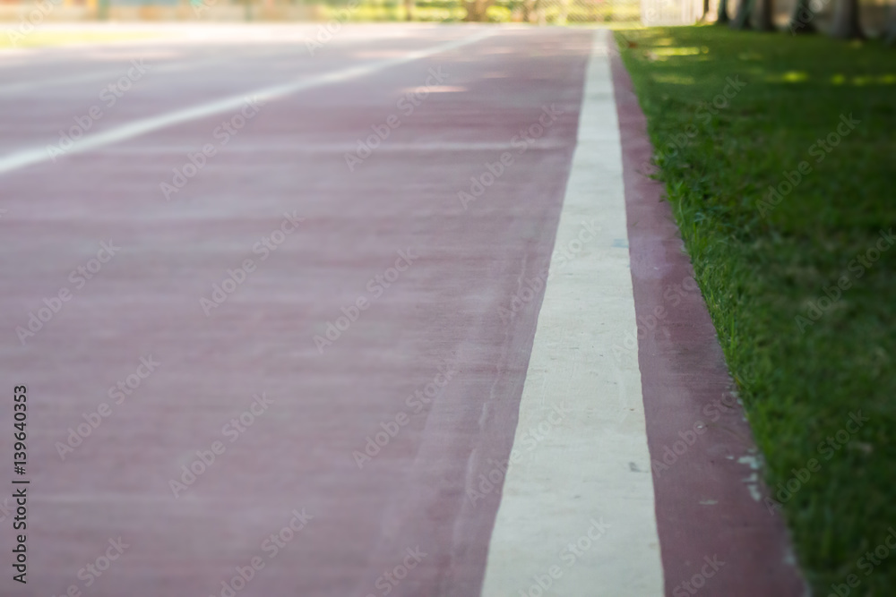
[[[652,596],[702,569],[800,594],[749,459],[707,468],[748,446],[650,473],[694,417],[640,372],[675,346],[635,336],[665,278],[630,258],[631,193],[657,191],[606,33],[358,27],[312,56],[309,27],[211,31],[0,57],[30,479],[29,583],[4,562],[0,592]]]

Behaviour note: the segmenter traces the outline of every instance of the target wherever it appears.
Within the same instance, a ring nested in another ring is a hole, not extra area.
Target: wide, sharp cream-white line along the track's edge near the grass
[[[612,353],[637,323],[606,35],[593,39],[556,237],[581,251],[551,260],[483,597],[663,595],[638,355]]]

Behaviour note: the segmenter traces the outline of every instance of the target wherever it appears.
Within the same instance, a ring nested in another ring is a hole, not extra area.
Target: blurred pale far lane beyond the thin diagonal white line
[[[433,41],[451,42],[458,37],[459,32],[448,32],[436,35]],[[53,85],[53,81],[58,81],[60,73],[72,69],[60,71],[53,65],[52,74],[41,73],[37,81],[17,81],[0,86],[0,110],[15,111],[20,116],[14,123],[4,126],[0,152],[10,154],[30,149],[31,158],[38,158],[40,153],[48,153],[48,146],[66,149],[68,141],[63,141],[66,137],[75,139],[80,132],[89,137],[157,115],[157,106],[170,102],[172,90],[182,99],[184,107],[211,103],[228,96],[248,95],[254,90],[276,87],[283,81],[326,77],[342,69],[346,61],[354,62],[356,57],[364,63],[374,64],[377,58],[383,62],[383,58],[408,55],[418,49],[414,44],[419,45],[426,38],[421,32],[417,38],[402,36],[388,43],[377,41],[376,47],[366,48],[359,40],[336,43],[341,41],[336,39],[314,56],[309,55],[304,43],[295,42],[280,47],[263,46],[261,50],[220,41],[212,49],[184,44],[169,50],[127,47],[124,52],[119,50],[108,56],[100,54],[89,58],[93,63],[118,64],[116,71],[64,76],[63,81],[84,81],[84,77],[89,81],[66,84],[61,88]],[[134,64],[139,68],[135,69]],[[37,65],[33,68],[47,70]],[[205,77],[203,70],[218,72],[220,76]],[[133,79],[124,81],[122,90],[108,90],[110,85],[116,86],[131,75]],[[29,78],[32,76],[29,73]],[[33,85],[37,88],[32,89]],[[4,88],[11,91],[4,93]],[[32,90],[30,100],[22,102],[22,92],[29,89]],[[60,93],[65,93],[64,101],[61,101]],[[99,118],[89,117],[91,108],[99,108]]]

